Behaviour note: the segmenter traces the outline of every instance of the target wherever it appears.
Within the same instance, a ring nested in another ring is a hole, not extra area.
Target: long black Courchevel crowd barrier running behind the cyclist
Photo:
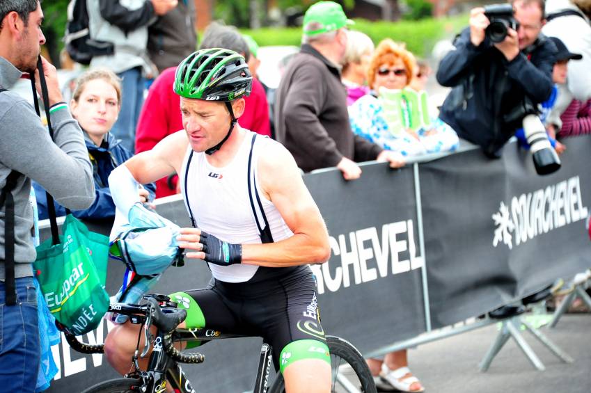
[[[332,248],[329,262],[313,266],[324,330],[372,353],[588,268],[591,136],[565,145],[562,168],[544,177],[514,143],[497,160],[466,150],[397,170],[364,163],[353,182],[336,169],[304,175]],[[159,200],[157,210],[189,225],[178,196]],[[88,225],[110,229],[109,223]],[[110,294],[122,273],[122,264],[110,262]],[[209,280],[205,264],[189,260],[169,268],[154,291],[204,287]],[[109,328],[105,322],[84,339],[103,342]],[[205,363],[184,369],[200,392],[244,392],[254,383],[260,342],[207,344],[200,348]],[[49,392],[79,391],[116,377],[102,355],[81,355],[64,341],[53,350],[60,371]]]

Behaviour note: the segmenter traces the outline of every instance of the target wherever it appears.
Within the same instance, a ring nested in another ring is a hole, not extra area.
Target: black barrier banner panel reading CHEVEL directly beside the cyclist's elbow
[[[354,182],[335,170],[304,181],[330,234],[331,259],[313,266],[324,330],[362,352],[425,331],[412,168],[378,164]]]

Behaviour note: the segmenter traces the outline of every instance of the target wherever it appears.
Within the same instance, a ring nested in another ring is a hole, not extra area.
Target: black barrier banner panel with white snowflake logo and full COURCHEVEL
[[[477,316],[591,266],[591,137],[567,138],[562,168],[538,176],[516,143],[420,165],[432,327]]]

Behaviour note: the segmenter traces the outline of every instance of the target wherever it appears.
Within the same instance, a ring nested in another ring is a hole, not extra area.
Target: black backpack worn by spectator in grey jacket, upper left
[[[90,64],[93,56],[111,55],[114,52],[112,42],[90,38],[86,0],[70,0],[63,40],[72,60],[84,65]]]

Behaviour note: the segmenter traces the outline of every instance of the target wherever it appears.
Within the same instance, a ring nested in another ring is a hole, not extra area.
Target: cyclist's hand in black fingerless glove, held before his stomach
[[[242,262],[242,245],[221,241],[212,234],[207,234],[198,228],[181,228],[177,236],[179,247],[185,250],[187,258],[203,259],[210,264],[228,266]]]

